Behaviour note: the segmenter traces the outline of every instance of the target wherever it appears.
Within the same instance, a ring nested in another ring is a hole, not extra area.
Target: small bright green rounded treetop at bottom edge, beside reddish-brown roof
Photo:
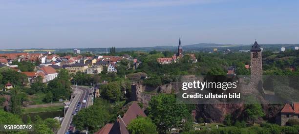
[[[149,117],[137,117],[131,120],[127,129],[130,134],[158,134],[157,126]]]

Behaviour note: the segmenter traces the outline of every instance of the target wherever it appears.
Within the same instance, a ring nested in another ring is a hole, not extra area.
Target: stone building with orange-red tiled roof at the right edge
[[[299,119],[299,102],[294,102],[291,104],[285,104],[281,114],[281,122],[280,125],[284,126],[289,121],[289,119]]]

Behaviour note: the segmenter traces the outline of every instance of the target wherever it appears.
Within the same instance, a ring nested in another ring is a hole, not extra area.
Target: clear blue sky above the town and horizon
[[[299,43],[299,0],[1,0],[0,49]]]

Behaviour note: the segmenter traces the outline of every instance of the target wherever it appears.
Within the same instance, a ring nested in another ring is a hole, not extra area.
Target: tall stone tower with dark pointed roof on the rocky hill
[[[251,46],[250,50],[251,57],[251,84],[254,88],[260,89],[262,85],[262,50],[260,46],[255,42],[253,46]]]

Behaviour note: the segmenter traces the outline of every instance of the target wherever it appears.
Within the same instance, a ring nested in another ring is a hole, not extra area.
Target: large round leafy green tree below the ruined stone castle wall
[[[174,95],[159,94],[149,101],[149,117],[157,125],[160,133],[172,127],[180,127],[183,119],[190,116],[185,104],[177,104]]]

